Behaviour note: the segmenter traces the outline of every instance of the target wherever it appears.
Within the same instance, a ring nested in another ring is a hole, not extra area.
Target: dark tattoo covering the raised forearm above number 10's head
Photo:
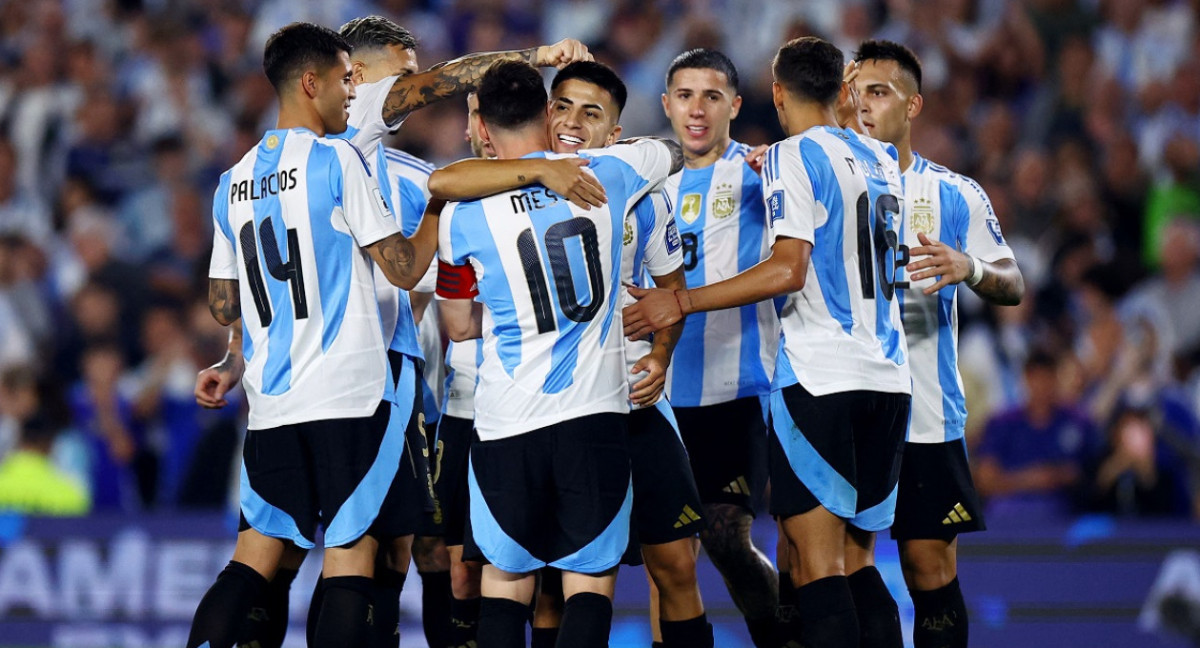
[[[388,124],[400,121],[404,115],[444,98],[470,92],[484,77],[484,72],[497,61],[527,61],[538,64],[538,48],[514,52],[490,52],[474,54],[438,64],[419,74],[396,79],[383,104],[383,119]]]

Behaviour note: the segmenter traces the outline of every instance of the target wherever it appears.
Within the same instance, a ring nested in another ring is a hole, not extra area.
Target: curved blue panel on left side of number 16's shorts
[[[858,491],[841,476],[800,432],[787,409],[782,390],[770,392],[770,420],[792,472],[817,502],[838,517],[854,517]],[[803,478],[800,476],[803,475]]]

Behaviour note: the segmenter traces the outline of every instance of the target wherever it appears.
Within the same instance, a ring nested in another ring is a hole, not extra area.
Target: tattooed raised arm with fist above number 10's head
[[[484,72],[497,61],[527,61],[541,67],[563,67],[574,61],[590,60],[587,46],[575,38],[528,49],[468,54],[438,64],[425,72],[396,79],[384,101],[383,119],[388,124],[395,124],[418,108],[474,90]]]

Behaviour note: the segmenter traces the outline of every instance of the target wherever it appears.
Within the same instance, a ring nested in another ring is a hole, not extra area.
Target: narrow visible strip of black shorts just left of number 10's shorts
[[[434,448],[433,492],[442,509],[442,530],[446,546],[462,545],[467,527],[467,470],[470,444],[475,438],[475,421],[457,416],[442,416]]]

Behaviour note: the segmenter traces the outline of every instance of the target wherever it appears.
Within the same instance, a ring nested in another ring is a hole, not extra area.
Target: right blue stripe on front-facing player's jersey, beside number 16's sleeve
[[[755,196],[757,193],[758,196]],[[762,179],[742,164],[742,205],[738,214],[738,272],[745,272],[762,260],[762,241],[767,227],[767,208],[762,202]],[[742,306],[742,347],[738,349],[738,398],[758,396],[760,385],[770,384],[762,366],[762,340],[758,330],[758,305]],[[750,376],[746,376],[746,374]],[[749,378],[749,379],[748,379]]]

